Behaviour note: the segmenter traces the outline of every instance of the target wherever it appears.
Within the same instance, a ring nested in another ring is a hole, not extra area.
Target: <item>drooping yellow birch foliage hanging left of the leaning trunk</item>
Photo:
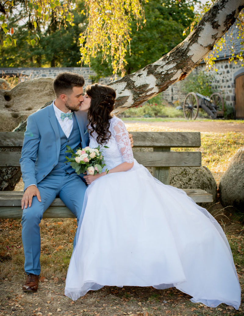
[[[34,29],[35,36],[30,40],[35,45],[38,34],[38,22],[45,23],[54,17],[59,21],[59,26],[64,27],[70,23],[73,25],[76,1],[73,0],[0,0],[0,42],[2,45],[16,45],[15,25],[12,17],[18,18],[19,5],[25,4]],[[143,0],[147,2],[148,0]],[[89,64],[90,57],[96,57],[100,50],[103,58],[110,55],[113,71],[123,72],[125,62],[126,45],[130,40],[130,21],[134,18],[138,27],[140,20],[144,17],[142,3],[140,0],[86,0],[84,2],[88,24],[85,33],[80,33],[81,59]],[[23,20],[22,20],[23,21]],[[25,22],[25,21],[24,21]],[[143,21],[145,22],[145,21]],[[26,23],[28,27],[28,24]],[[31,30],[31,27],[29,28]],[[82,30],[81,30],[82,31]]]

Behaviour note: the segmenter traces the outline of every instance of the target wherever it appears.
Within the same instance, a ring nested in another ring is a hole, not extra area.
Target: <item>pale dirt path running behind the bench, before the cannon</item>
[[[171,122],[150,122],[150,121],[127,121],[123,120],[129,128],[133,125],[137,126],[150,126],[151,128],[159,129],[160,131],[199,131],[199,132],[215,132],[215,133],[226,133],[226,132],[243,132],[244,133],[244,120],[243,121],[171,121]]]

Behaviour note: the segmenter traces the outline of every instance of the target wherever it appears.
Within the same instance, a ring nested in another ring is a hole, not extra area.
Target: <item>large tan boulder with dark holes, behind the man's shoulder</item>
[[[12,131],[21,121],[55,98],[53,78],[39,78],[0,89],[0,131]]]

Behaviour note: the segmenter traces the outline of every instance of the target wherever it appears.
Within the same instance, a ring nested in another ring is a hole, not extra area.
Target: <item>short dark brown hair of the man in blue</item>
[[[85,79],[83,76],[71,72],[62,72],[54,79],[53,90],[56,97],[58,97],[62,93],[71,93],[73,87],[83,87],[84,84]]]

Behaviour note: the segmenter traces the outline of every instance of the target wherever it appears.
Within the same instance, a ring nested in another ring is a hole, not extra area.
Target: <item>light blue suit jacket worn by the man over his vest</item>
[[[88,143],[87,113],[78,111],[74,115],[84,148]],[[20,159],[24,190],[37,185],[57,164],[61,146],[58,124],[52,104],[28,117]]]

